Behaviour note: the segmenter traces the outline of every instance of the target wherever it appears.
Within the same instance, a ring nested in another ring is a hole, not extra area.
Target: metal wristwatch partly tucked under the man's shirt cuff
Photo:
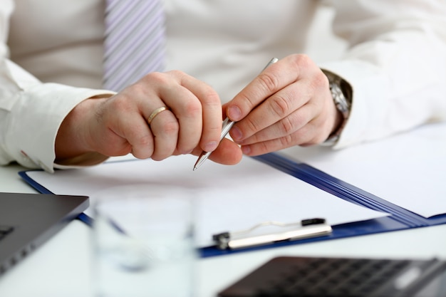
[[[338,139],[339,135],[343,130],[343,127],[347,123],[348,115],[350,115],[351,110],[351,85],[343,80],[339,75],[332,73],[331,71],[322,70],[323,73],[328,78],[328,83],[331,91],[331,96],[333,97],[333,101],[336,105],[336,108],[343,115],[343,122],[341,125],[331,133],[328,138],[321,143],[321,145],[331,146],[334,145]]]

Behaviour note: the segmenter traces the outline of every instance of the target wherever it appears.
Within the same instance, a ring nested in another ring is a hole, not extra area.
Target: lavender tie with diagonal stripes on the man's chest
[[[162,71],[165,18],[161,0],[106,0],[103,86],[120,91]]]

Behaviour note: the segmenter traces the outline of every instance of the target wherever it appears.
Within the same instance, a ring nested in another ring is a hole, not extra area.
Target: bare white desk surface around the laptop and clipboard
[[[1,192],[36,192],[17,174],[0,167]],[[274,256],[354,256],[446,259],[446,225],[336,239],[199,259],[197,296],[213,297]],[[90,229],[73,221],[0,278],[2,297],[91,297]]]

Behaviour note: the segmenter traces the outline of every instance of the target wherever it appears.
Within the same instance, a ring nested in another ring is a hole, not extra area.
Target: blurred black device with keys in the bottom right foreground
[[[445,297],[446,261],[278,256],[219,297]]]

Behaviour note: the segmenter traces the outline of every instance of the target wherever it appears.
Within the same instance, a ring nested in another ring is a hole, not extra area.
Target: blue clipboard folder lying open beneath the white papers
[[[315,241],[326,241],[351,236],[377,234],[388,231],[398,231],[410,228],[446,224],[446,214],[441,214],[426,219],[425,217],[421,217],[420,215],[414,214],[413,212],[403,209],[402,207],[398,207],[398,205],[392,204],[384,199],[381,199],[380,197],[376,197],[373,194],[365,192],[363,189],[359,189],[352,184],[343,182],[341,179],[336,179],[336,177],[317,170],[304,162],[289,160],[288,158],[274,152],[253,158],[259,162],[264,162],[277,170],[281,170],[287,174],[290,174],[291,176],[301,179],[304,182],[308,182],[319,189],[323,189],[336,197],[354,204],[359,204],[363,207],[368,207],[380,212],[387,212],[390,214],[390,216],[370,219],[364,222],[336,225],[332,227],[330,234],[323,236],[296,239],[292,241],[276,241],[273,244],[264,244],[260,246],[246,247],[243,249],[219,249],[217,246],[209,246],[199,249],[199,255],[202,258],[209,256],[222,256],[225,254],[234,254],[245,251],[256,251],[271,247],[289,246],[291,244],[305,244]],[[38,184],[31,177],[29,177],[27,174],[28,171],[21,171],[19,172],[19,175],[38,192],[43,194],[53,194],[51,191],[46,189],[46,187],[43,187],[41,184]],[[78,219],[85,222],[85,224],[92,224],[92,219],[85,214],[81,214]]]

